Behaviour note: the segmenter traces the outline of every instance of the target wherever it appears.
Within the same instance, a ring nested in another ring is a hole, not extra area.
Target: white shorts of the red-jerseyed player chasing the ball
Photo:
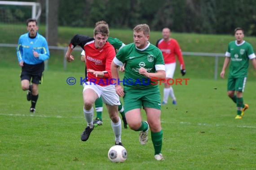
[[[96,85],[94,83],[90,83],[89,81],[87,84],[84,84],[84,90],[85,89],[93,89],[98,97],[102,97],[102,101],[106,105],[114,106],[114,105],[120,105],[119,96],[115,92],[115,85],[106,85],[106,86],[100,86]],[[83,93],[84,93],[83,90]]]

